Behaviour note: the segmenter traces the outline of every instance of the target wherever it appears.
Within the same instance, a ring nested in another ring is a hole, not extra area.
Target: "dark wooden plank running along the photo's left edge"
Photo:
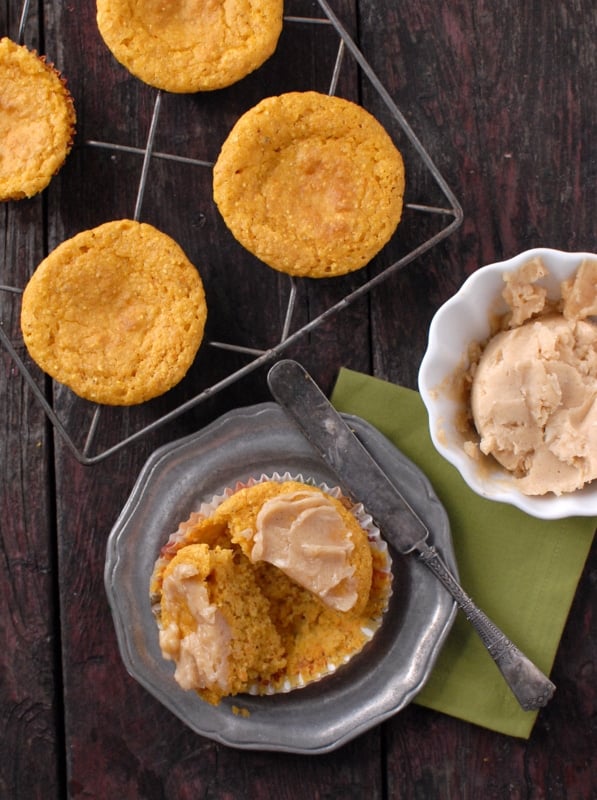
[[[0,34],[16,39],[18,24],[19,15],[4,4]],[[26,30],[31,47],[38,46],[38,28],[32,14]],[[0,284],[23,285],[43,248],[42,200],[0,204]],[[10,337],[18,331],[19,311],[20,295],[0,292],[0,324]],[[51,434],[4,348],[0,398],[0,796],[58,797],[62,689]]]

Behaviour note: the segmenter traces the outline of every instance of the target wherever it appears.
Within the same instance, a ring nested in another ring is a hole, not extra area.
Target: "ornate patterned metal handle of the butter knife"
[[[464,611],[522,708],[533,711],[547,705],[555,691],[549,678],[475,605],[435,547],[421,543],[417,552],[419,559],[441,581]]]

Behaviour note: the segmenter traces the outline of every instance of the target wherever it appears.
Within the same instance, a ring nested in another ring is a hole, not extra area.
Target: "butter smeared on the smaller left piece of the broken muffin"
[[[183,689],[215,684],[227,691],[232,634],[192,564],[179,564],[164,578],[162,609],[174,616],[160,630],[159,643],[164,658],[176,662],[177,683]],[[189,632],[181,635],[185,627]]]

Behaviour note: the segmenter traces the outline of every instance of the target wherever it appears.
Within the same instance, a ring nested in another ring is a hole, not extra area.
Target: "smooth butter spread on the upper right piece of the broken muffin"
[[[352,534],[330,500],[312,491],[280,494],[263,504],[256,522],[253,562],[273,564],[331,608],[354,606]]]

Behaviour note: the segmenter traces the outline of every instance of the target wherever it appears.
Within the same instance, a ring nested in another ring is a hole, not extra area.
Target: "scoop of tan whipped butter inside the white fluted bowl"
[[[582,262],[547,300],[538,260],[507,277],[512,309],[475,365],[471,410],[482,453],[528,495],[562,494],[597,478],[597,261]]]

